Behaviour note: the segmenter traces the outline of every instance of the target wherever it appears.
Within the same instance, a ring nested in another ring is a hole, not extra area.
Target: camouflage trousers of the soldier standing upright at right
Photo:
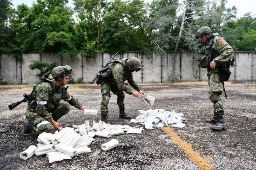
[[[220,82],[219,73],[208,74],[209,99],[213,102],[214,114],[224,114],[224,107],[220,95],[223,93],[223,85]]]

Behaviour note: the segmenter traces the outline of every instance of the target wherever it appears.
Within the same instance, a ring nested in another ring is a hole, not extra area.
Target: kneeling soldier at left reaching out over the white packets
[[[61,124],[57,122],[70,110],[70,105],[85,109],[68,92],[65,85],[68,83],[71,67],[58,66],[52,70],[52,74],[45,75],[33,88],[30,98],[34,98],[27,106],[26,120],[23,126],[23,135],[29,136],[31,130],[37,133],[55,132],[60,130]],[[61,99],[68,103],[60,103]]]

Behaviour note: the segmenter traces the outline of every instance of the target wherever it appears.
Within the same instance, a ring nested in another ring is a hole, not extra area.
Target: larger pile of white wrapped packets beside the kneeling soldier
[[[27,160],[34,154],[36,156],[46,156],[49,163],[71,159],[74,155],[91,152],[88,147],[93,144],[94,137],[110,138],[116,135],[122,135],[124,132],[141,133],[143,128],[133,128],[128,125],[110,125],[103,121],[90,126],[89,120],[82,125],[73,125],[74,128],[65,127],[61,131],[52,133],[41,133],[37,141],[37,146],[31,145],[25,151],[20,153],[20,158]],[[103,151],[108,151],[119,145],[117,139],[112,139],[101,145]]]

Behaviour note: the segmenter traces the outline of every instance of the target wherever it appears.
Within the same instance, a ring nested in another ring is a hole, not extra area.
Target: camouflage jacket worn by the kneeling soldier
[[[34,87],[30,96],[35,100],[28,103],[31,110],[35,110],[46,120],[52,120],[52,114],[48,111],[48,105],[58,105],[61,100],[67,101],[72,106],[80,109],[81,103],[74,99],[68,92],[67,88],[60,86],[56,88],[56,82],[51,74],[45,75],[41,82]]]

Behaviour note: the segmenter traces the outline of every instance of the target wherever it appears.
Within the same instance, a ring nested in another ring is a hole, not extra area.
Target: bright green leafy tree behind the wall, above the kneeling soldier
[[[68,0],[37,0],[25,17],[30,36],[24,46],[35,52],[57,52],[58,57],[77,59],[73,41],[74,19]]]

